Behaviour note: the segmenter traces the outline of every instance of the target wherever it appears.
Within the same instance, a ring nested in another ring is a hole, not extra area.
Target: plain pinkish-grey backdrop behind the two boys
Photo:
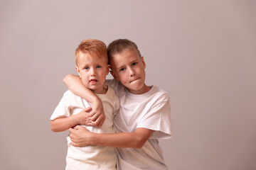
[[[137,43],[146,84],[169,93],[169,169],[256,169],[256,2],[0,1],[0,169],[64,169],[50,115],[95,38]],[[108,78],[112,78],[109,76]]]

